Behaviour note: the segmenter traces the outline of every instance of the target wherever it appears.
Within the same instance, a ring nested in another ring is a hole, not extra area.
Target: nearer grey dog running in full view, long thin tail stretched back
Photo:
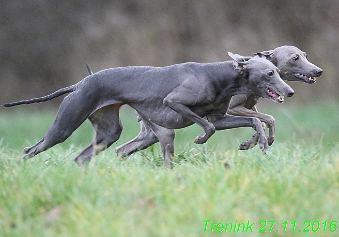
[[[260,148],[265,151],[268,142],[258,118],[225,115],[231,97],[254,94],[281,101],[283,97],[292,96],[294,91],[281,80],[277,67],[270,61],[245,60],[230,52],[229,55],[233,60],[218,63],[106,69],[45,97],[3,106],[43,102],[71,92],[63,99],[44,137],[24,149],[28,158],[63,142],[88,118],[96,137],[75,158],[78,165],[88,163],[93,155],[119,139],[123,129],[119,109],[123,104],[134,108],[156,135],[167,166],[173,159],[174,129],[193,123],[204,130],[196,138],[197,144],[205,143],[216,130],[252,127],[259,135]]]

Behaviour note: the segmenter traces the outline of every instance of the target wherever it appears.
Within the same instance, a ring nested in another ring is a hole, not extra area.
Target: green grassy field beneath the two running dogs
[[[87,167],[73,158],[93,138],[88,121],[24,162],[22,149],[56,114],[25,109],[0,111],[1,237],[338,236],[339,104],[260,107],[277,122],[268,156],[237,150],[250,128],[217,132],[205,145],[192,142],[199,126],[178,130],[172,170],[158,144],[117,159],[114,148],[139,133],[128,108],[121,139]],[[235,232],[225,233],[227,223]]]

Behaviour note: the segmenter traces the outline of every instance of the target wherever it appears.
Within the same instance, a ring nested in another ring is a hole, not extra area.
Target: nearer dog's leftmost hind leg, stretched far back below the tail
[[[90,113],[90,106],[83,104],[78,94],[69,94],[62,101],[52,126],[38,143],[24,149],[23,158],[31,158],[62,143],[85,121]]]

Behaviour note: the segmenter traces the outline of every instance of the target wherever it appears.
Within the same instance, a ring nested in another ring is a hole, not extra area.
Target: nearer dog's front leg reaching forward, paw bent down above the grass
[[[239,127],[252,127],[259,137],[259,147],[263,152],[267,153],[268,148],[267,137],[262,128],[262,122],[258,118],[238,117],[225,115],[223,118],[216,120],[214,123],[216,130],[225,130]]]

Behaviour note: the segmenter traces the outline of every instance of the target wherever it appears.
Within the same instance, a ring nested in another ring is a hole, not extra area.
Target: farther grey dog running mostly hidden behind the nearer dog
[[[314,83],[315,77],[320,76],[323,70],[307,60],[305,52],[301,51],[295,46],[280,46],[273,50],[266,50],[261,53],[256,53],[256,57],[270,60],[280,70],[279,74],[281,79],[288,81],[302,81],[306,83]],[[248,60],[252,57],[244,57]],[[90,72],[91,73],[91,72]],[[267,124],[269,128],[268,144],[272,145],[274,141],[275,119],[266,114],[259,113],[255,107],[260,97],[253,94],[239,94],[234,95],[231,99],[227,114],[234,116],[246,116],[259,118],[262,122]],[[282,103],[281,100],[274,100],[277,103]],[[115,150],[118,155],[127,157],[132,153],[145,149],[158,141],[156,135],[145,124],[141,117],[138,116],[140,121],[140,133],[131,141],[117,147]],[[257,144],[259,139],[258,133],[255,133],[251,139],[243,142],[240,149],[248,149]]]

